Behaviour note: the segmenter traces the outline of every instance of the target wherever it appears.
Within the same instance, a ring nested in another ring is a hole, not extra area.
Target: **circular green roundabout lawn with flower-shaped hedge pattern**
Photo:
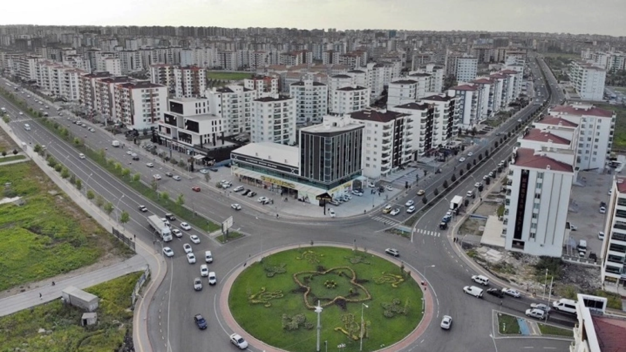
[[[316,350],[317,302],[324,341],[335,350],[376,351],[397,343],[422,319],[423,292],[403,266],[367,251],[302,247],[254,262],[233,282],[228,306],[255,338],[294,352]],[[361,330],[361,312],[363,326]]]

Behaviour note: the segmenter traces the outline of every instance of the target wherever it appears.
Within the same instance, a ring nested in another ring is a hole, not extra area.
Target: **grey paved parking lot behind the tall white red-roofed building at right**
[[[578,174],[578,179],[582,180],[582,186],[574,185],[570,197],[570,207],[567,220],[575,225],[577,230],[570,233],[570,244],[577,244],[584,239],[587,241],[587,257],[590,253],[595,253],[600,257],[600,246],[602,241],[598,239],[598,231],[604,230],[607,214],[600,214],[600,202],[607,202],[609,199],[613,175],[607,173],[600,174],[596,171],[585,171]],[[576,256],[577,252],[571,245],[566,246],[567,254]]]

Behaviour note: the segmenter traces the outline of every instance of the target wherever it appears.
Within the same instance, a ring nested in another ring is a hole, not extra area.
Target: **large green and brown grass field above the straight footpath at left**
[[[107,253],[130,256],[35,163],[0,167],[0,184],[7,183],[3,196],[19,196],[23,204],[0,205],[0,291],[88,266]]]

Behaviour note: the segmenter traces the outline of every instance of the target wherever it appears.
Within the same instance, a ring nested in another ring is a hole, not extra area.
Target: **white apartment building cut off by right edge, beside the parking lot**
[[[605,238],[602,241],[600,276],[602,283],[623,286],[626,282],[626,179],[613,177],[612,192],[607,204]]]

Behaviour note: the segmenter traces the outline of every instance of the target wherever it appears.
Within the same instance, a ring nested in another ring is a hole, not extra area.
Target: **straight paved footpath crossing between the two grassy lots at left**
[[[26,308],[37,306],[41,303],[61,298],[61,291],[66,289],[68,286],[85,289],[87,287],[115,279],[116,277],[130,274],[131,272],[142,271],[145,268],[145,259],[136,254],[119,264],[103,267],[102,269],[96,271],[55,282],[56,284],[54,286],[52,286],[52,284],[48,284],[44,287],[18,293],[8,298],[0,299],[0,316],[6,316]],[[49,282],[52,282],[53,280],[54,277],[51,277]],[[41,294],[41,298],[39,298],[39,294]]]

